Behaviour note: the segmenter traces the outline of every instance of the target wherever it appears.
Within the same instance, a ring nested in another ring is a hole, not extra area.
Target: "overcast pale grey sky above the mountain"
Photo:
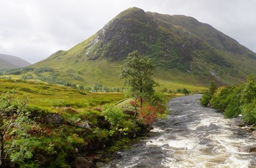
[[[129,7],[192,16],[256,52],[255,0],[0,0],[0,53],[34,64],[88,39]]]

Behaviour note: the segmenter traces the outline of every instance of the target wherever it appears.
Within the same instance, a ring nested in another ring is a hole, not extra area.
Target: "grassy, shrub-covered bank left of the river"
[[[149,74],[145,82],[151,80]],[[126,147],[167,115],[167,94],[155,93],[154,85],[143,91],[129,85],[132,99],[26,80],[0,85],[0,167],[73,167],[80,156]]]

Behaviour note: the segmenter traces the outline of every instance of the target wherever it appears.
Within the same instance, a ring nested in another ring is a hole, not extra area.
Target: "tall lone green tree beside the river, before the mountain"
[[[140,56],[138,50],[129,53],[121,66],[121,79],[126,79],[129,94],[135,98],[135,110],[136,100],[139,99],[141,107],[144,99],[154,95],[153,87],[159,85],[153,80],[154,67],[150,58]]]

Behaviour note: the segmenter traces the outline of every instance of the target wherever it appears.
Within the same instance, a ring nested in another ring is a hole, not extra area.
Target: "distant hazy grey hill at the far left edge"
[[[16,56],[0,54],[0,69],[15,69],[29,66],[30,63]]]

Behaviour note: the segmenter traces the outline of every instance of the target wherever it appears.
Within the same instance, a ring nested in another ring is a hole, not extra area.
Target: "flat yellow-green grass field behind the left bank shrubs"
[[[77,109],[96,107],[124,99],[124,93],[90,93],[61,85],[50,85],[24,80],[0,79],[1,90],[17,89],[20,95],[29,96],[29,105],[48,108],[74,107]]]

